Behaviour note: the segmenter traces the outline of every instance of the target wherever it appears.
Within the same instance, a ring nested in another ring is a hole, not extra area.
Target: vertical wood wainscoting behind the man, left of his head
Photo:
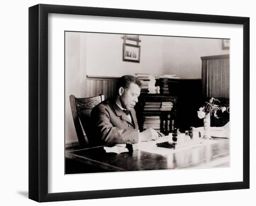
[[[120,77],[103,77],[87,75],[86,96],[94,97],[104,94],[105,99],[115,95],[116,83]]]

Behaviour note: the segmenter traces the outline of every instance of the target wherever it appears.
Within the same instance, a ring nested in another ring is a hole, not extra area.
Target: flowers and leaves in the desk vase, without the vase
[[[219,106],[216,103],[220,102],[218,99],[216,98],[211,98],[209,100],[209,102],[205,102],[203,107],[199,108],[199,111],[197,111],[197,116],[202,119],[205,117],[205,115],[210,114],[210,115],[214,115],[215,118],[219,118],[217,116],[217,111],[221,110],[222,113],[226,111],[226,107],[225,106]]]

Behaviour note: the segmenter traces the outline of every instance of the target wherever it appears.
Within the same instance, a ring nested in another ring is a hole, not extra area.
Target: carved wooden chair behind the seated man
[[[88,98],[76,98],[74,95],[69,96],[74,127],[77,138],[81,147],[88,147],[88,121],[94,106],[104,100],[104,95]]]

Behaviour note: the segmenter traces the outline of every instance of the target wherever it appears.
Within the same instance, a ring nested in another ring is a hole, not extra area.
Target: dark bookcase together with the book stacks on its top
[[[141,81],[141,95],[137,106],[140,130],[151,127],[168,134],[175,125],[180,77],[175,74],[164,74],[159,78],[152,73],[135,75]]]

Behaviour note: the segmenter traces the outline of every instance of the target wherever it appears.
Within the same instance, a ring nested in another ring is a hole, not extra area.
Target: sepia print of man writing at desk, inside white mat
[[[229,167],[229,113],[229,40],[65,32],[65,174]]]

